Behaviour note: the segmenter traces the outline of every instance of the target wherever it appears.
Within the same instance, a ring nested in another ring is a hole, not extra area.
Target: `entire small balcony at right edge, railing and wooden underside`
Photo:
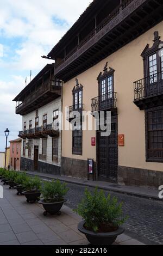
[[[134,82],[134,103],[140,110],[163,104],[163,71]]]

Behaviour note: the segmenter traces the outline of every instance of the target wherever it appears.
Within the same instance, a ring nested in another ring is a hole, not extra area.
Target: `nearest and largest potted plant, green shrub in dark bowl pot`
[[[83,217],[78,230],[85,234],[91,245],[112,245],[118,235],[124,232],[121,225],[126,221],[123,216],[122,203],[116,197],[105,196],[104,191],[91,194],[87,189],[82,202],[75,210]]]

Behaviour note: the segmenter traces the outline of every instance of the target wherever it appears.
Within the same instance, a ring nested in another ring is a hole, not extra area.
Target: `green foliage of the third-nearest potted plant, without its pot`
[[[37,191],[41,189],[41,179],[37,176],[34,178],[30,178],[27,176],[25,180],[23,180],[23,187],[28,191]]]

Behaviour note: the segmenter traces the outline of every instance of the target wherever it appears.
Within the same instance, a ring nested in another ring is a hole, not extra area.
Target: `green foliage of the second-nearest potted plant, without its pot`
[[[43,201],[49,203],[61,202],[64,200],[64,196],[68,190],[69,188],[67,188],[67,184],[62,184],[59,180],[53,180],[52,182],[45,181],[43,182],[41,190]]]

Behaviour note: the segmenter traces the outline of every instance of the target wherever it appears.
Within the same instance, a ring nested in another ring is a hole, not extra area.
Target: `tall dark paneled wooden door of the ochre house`
[[[117,182],[118,169],[117,117],[111,120],[111,135],[102,137],[98,133],[98,176],[99,179]]]

